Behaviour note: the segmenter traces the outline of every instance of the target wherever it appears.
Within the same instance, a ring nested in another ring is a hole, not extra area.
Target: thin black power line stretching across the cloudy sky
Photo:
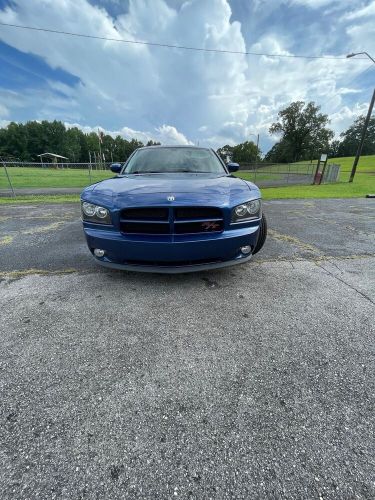
[[[42,31],[45,33],[57,33],[59,35],[67,35],[67,36],[76,36],[80,38],[91,38],[94,40],[105,40],[108,42],[120,42],[120,43],[128,43],[134,45],[147,45],[151,47],[164,47],[168,49],[182,49],[182,50],[193,50],[197,52],[214,52],[218,54],[239,54],[246,56],[267,56],[267,57],[284,57],[284,58],[297,58],[297,59],[325,59],[325,60],[346,60],[346,57],[341,56],[309,56],[309,55],[297,55],[297,54],[268,54],[266,52],[249,52],[249,51],[240,51],[240,50],[224,50],[224,49],[207,49],[204,47],[189,47],[187,45],[175,45],[170,43],[156,43],[156,42],[145,42],[141,40],[125,40],[123,38],[110,38],[104,36],[96,36],[96,35],[86,35],[83,33],[72,33],[70,31],[60,31],[53,30],[49,28],[37,28],[35,26],[22,26],[20,24],[10,24],[10,23],[1,23],[0,26],[8,26],[11,28],[19,28],[25,30],[33,30],[33,31]],[[357,57],[359,59],[366,59],[364,57]]]

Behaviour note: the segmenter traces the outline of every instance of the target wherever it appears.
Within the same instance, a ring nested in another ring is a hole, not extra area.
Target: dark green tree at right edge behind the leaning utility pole
[[[359,116],[345,132],[340,134],[341,140],[335,156],[354,156],[357,153],[364,123],[365,117]],[[375,154],[375,117],[370,118],[365,142],[363,143],[362,154]]]

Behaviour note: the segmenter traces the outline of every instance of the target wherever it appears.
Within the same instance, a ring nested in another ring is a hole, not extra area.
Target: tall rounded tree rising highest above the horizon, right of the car
[[[327,128],[327,115],[319,113],[320,106],[314,102],[292,102],[278,113],[279,121],[269,129],[271,134],[280,134],[281,139],[274,149],[273,161],[299,161],[317,157],[329,149],[333,138],[332,130]]]

